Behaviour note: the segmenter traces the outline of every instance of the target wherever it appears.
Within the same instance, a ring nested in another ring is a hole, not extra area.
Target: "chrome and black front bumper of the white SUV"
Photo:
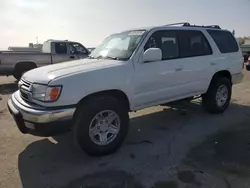
[[[22,133],[53,136],[70,129],[75,107],[45,108],[27,106],[18,91],[8,101],[8,109]]]

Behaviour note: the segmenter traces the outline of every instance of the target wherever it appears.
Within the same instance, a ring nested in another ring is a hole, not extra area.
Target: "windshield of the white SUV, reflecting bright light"
[[[135,51],[145,30],[133,30],[107,37],[91,54],[90,58],[128,60]]]

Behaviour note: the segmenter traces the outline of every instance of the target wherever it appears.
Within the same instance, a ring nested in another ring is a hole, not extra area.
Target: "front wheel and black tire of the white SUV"
[[[125,105],[113,97],[97,97],[76,112],[74,137],[80,148],[90,156],[115,152],[125,139],[129,116]]]

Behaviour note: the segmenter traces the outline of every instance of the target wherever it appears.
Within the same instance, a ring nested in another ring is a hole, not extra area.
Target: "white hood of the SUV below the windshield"
[[[22,76],[22,79],[32,83],[47,84],[51,80],[62,76],[119,66],[122,62],[123,61],[107,59],[80,59],[68,61],[30,70]]]

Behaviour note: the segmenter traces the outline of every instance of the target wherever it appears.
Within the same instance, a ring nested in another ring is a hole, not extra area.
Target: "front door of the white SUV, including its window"
[[[152,34],[144,51],[160,48],[162,60],[135,63],[135,108],[142,108],[180,96],[182,59],[179,59],[177,32],[161,30]]]

